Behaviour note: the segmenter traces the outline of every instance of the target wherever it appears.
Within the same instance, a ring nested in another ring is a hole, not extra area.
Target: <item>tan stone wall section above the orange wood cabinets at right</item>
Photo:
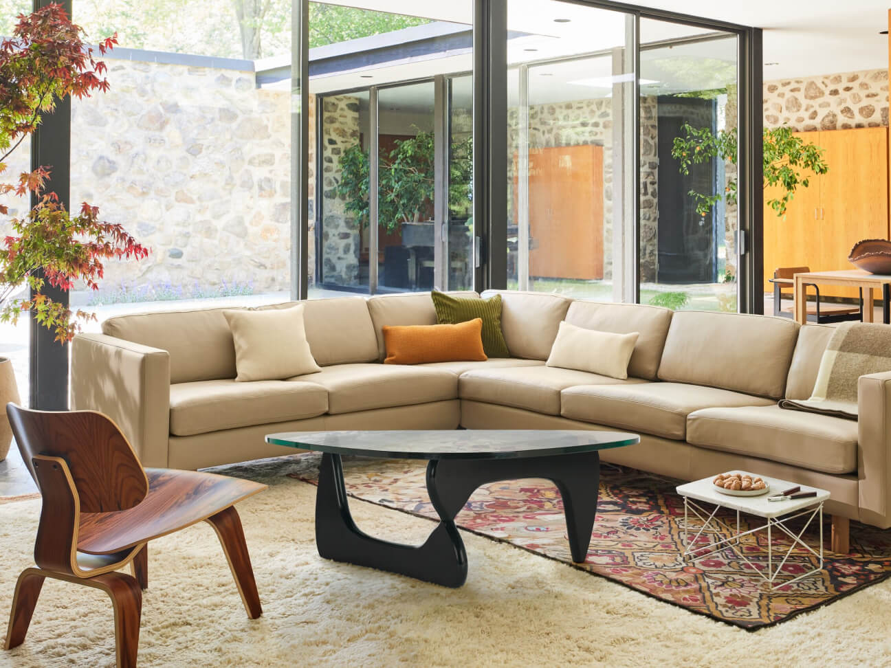
[[[887,125],[887,69],[764,82],[764,127],[809,132]]]

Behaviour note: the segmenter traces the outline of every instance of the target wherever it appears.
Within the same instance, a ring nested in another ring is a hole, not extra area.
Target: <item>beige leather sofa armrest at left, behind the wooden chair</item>
[[[71,342],[71,408],[100,411],[127,436],[143,466],[168,466],[170,354],[104,334]]]

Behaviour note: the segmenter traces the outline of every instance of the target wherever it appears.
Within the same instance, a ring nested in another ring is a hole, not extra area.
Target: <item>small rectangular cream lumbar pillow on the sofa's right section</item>
[[[636,331],[613,334],[586,330],[563,321],[560,322],[560,330],[546,364],[625,380],[628,378],[628,362],[639,336],[640,333]]]

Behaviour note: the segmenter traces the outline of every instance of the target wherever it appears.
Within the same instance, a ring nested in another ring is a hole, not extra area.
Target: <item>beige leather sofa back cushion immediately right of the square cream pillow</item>
[[[303,322],[319,366],[376,362],[378,341],[364,297],[308,299]]]

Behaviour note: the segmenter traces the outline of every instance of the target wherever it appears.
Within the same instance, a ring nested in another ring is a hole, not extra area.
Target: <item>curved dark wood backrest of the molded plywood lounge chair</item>
[[[130,509],[148,493],[149,481],[133,447],[102,413],[30,411],[7,403],[6,414],[31,477],[37,482],[33,457],[61,457],[68,464],[82,512]]]

